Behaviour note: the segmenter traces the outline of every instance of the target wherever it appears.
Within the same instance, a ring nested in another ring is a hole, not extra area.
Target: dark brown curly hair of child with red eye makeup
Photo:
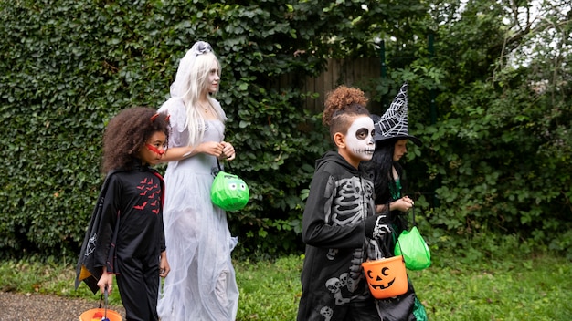
[[[110,120],[103,133],[103,173],[115,169],[130,170],[139,150],[156,131],[163,132],[169,140],[168,115],[162,113],[154,117],[155,114],[155,109],[132,107],[123,109]]]

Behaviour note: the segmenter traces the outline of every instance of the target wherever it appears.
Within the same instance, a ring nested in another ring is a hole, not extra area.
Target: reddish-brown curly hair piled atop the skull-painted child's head
[[[369,116],[365,109],[368,99],[362,90],[344,85],[328,92],[322,115],[323,125],[330,127],[330,136],[343,132],[351,126],[357,115]]]

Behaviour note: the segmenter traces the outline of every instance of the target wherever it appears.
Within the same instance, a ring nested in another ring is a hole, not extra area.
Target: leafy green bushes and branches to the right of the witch
[[[567,4],[517,16],[501,4],[440,4],[386,41],[387,104],[409,82],[409,192],[439,248],[508,234],[572,257],[572,92]],[[534,19],[550,16],[549,23]],[[397,85],[396,85],[397,84]]]

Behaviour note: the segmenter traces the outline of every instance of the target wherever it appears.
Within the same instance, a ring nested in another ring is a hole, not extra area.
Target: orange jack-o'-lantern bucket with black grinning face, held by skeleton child
[[[408,273],[402,255],[362,263],[365,279],[376,299],[408,292]]]

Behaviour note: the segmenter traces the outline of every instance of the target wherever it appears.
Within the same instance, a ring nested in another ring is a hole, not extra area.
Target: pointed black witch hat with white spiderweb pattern
[[[408,83],[405,82],[393,99],[389,109],[379,120],[374,120],[376,141],[382,140],[411,140],[421,146],[421,140],[408,132]]]

